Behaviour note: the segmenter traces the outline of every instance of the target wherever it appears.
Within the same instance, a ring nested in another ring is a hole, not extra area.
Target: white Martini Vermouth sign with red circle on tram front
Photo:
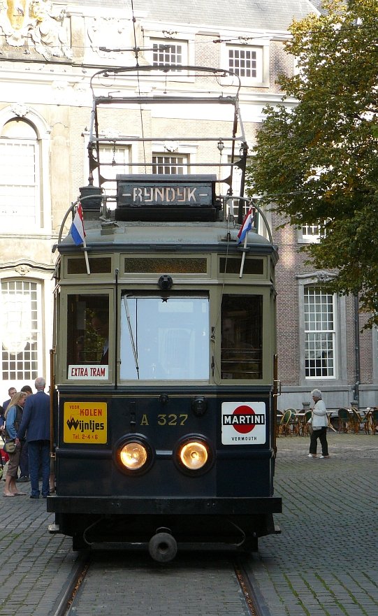
[[[266,442],[265,402],[223,402],[222,445],[263,445]]]

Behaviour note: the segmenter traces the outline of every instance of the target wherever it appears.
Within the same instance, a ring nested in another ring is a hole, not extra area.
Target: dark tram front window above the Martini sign
[[[224,295],[221,302],[221,378],[263,377],[263,297]]]

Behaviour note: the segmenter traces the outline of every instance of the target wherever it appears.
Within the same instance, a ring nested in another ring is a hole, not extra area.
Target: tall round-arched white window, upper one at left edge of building
[[[0,136],[0,222],[4,230],[42,226],[40,145],[33,125],[20,118]]]

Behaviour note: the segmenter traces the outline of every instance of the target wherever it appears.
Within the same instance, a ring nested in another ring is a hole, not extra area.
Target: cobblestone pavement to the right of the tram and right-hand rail
[[[377,616],[378,436],[277,439],[282,534],[262,538],[252,574],[272,616]],[[319,453],[319,452],[318,452]]]

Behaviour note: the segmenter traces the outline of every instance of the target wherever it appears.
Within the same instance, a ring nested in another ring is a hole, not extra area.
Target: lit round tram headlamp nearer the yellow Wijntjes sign
[[[116,460],[121,471],[140,475],[149,470],[153,462],[152,448],[143,436],[130,435],[117,443]]]

